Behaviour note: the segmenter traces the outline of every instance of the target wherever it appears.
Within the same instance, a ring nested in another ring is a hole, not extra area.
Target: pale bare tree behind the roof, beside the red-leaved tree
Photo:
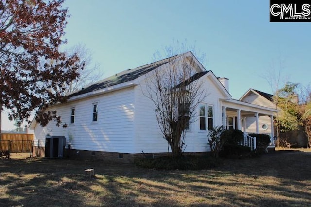
[[[103,74],[99,72],[99,64],[92,63],[92,52],[84,44],[75,45],[69,48],[66,53],[69,55],[76,54],[80,61],[85,64],[84,69],[79,71],[80,79],[73,80],[66,86],[66,95],[81,90],[82,87],[93,84],[103,78]]]

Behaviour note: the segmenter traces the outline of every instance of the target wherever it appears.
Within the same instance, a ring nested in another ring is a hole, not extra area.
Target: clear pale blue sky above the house
[[[68,47],[85,44],[104,77],[150,63],[156,50],[178,40],[206,54],[203,65],[229,79],[233,98],[249,88],[272,93],[264,77],[280,62],[282,82],[311,81],[311,22],[269,22],[269,0],[66,0],[64,6],[71,14]]]

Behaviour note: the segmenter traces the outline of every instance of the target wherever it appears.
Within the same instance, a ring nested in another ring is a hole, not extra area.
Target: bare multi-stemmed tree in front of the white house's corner
[[[187,57],[168,58],[167,64],[149,73],[144,92],[155,104],[159,128],[173,157],[182,155],[185,132],[194,121],[199,103],[206,97],[199,78],[207,72],[198,72],[195,58],[190,53],[184,55]]]

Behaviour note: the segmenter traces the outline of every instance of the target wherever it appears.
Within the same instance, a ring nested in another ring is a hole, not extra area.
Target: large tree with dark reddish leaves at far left
[[[59,51],[68,18],[63,0],[0,1],[0,111],[9,119],[26,120],[41,107],[36,121],[61,124],[49,105],[64,102],[65,85],[84,67],[77,55]],[[1,118],[0,118],[1,125]],[[1,126],[0,126],[1,128]]]

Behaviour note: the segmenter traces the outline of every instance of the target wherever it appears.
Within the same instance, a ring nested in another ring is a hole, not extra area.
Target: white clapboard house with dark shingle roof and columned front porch
[[[211,127],[224,125],[242,129],[244,117],[255,116],[256,131],[259,132],[259,117],[266,115],[272,120],[273,113],[277,112],[276,109],[232,99],[228,79],[217,78],[212,71],[206,71],[194,55],[187,52],[122,71],[71,94],[67,103],[50,108],[57,110],[67,128],[56,127],[53,121],[47,127],[39,126],[35,119],[31,122],[34,143],[39,143],[35,147],[44,147],[45,137],[49,134],[65,136],[71,154],[79,156],[133,160],[136,156],[167,153],[169,146],[160,133],[154,103],[143,95],[143,91],[146,90],[147,74],[167,69],[171,61],[182,60],[196,63],[195,81],[201,81],[208,94],[199,105],[206,109],[205,119],[194,117],[186,132],[185,152],[210,151],[207,135]],[[206,127],[201,130],[203,125]],[[273,128],[269,130],[273,134]]]

